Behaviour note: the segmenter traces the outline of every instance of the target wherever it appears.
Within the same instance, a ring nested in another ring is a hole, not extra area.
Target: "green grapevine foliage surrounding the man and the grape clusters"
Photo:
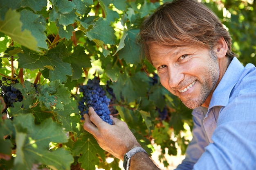
[[[112,88],[113,115],[127,122],[149,154],[152,143],[160,145],[159,160],[167,167],[165,148],[169,155],[177,148],[184,153],[191,110],[159,84],[135,41],[141,22],[164,2],[0,0],[0,74],[18,79],[23,95],[0,119],[0,169],[120,169],[118,159],[106,163],[112,156],[82,128],[78,86],[94,76]],[[229,29],[240,61],[256,64],[253,0],[202,3]],[[31,83],[41,86],[36,91]]]

